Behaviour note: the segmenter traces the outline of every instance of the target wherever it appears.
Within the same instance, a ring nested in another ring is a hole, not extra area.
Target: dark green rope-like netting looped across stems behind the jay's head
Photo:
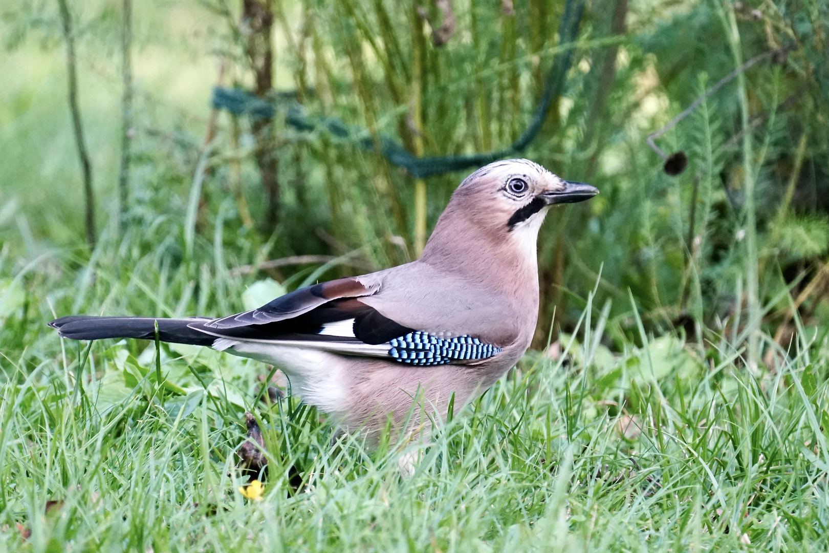
[[[573,43],[579,34],[579,24],[584,13],[585,0],[567,0],[565,12],[559,26],[559,46]],[[573,48],[565,48],[555,56],[550,73],[545,80],[544,91],[536,106],[530,124],[521,136],[507,148],[494,152],[469,153],[453,156],[433,156],[418,158],[386,134],[379,137],[381,152],[390,163],[404,167],[413,177],[424,178],[444,172],[459,171],[468,167],[480,167],[497,159],[520,153],[538,135],[541,125],[550,109],[550,103],[564,90],[567,71],[573,61]],[[255,119],[273,119],[277,111],[283,111],[285,122],[302,131],[322,130],[336,138],[350,140],[360,148],[372,150],[374,140],[366,129],[348,125],[341,119],[308,114],[293,95],[277,94],[269,99],[259,98],[246,90],[229,89],[216,86],[213,89],[212,104],[216,109],[226,109],[236,115],[248,115]]]

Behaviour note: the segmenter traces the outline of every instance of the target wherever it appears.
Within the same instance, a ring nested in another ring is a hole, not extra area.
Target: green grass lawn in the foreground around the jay
[[[529,352],[431,444],[391,434],[368,449],[298,398],[256,403],[268,367],[254,361],[61,342],[50,304],[175,312],[188,271],[211,273],[153,255],[130,272],[109,264],[114,245],[93,255],[94,281],[91,265],[56,257],[18,272],[25,286],[4,281],[0,551],[827,547],[820,343],[794,344],[776,372],[749,370],[744,337],[711,331],[703,347],[642,330],[613,353],[600,342],[616,324],[609,305],[588,298],[557,360]],[[210,305],[233,308],[243,286],[227,277],[219,289]],[[261,501],[238,491],[245,410],[268,448]],[[401,450],[419,453],[410,478]]]

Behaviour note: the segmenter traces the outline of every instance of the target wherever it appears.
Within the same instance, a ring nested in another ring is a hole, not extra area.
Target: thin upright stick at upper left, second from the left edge
[[[121,235],[127,230],[129,196],[130,143],[133,138],[133,65],[130,51],[133,43],[133,0],[124,0],[121,7],[121,165],[118,172],[118,221]]]

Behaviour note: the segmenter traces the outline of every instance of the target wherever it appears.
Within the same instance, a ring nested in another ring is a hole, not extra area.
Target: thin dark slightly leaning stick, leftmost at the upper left
[[[92,166],[90,156],[86,151],[84,127],[80,120],[78,107],[78,74],[77,59],[75,57],[75,34],[72,32],[72,19],[66,0],[57,0],[61,8],[61,26],[63,38],[66,42],[66,73],[69,77],[69,110],[72,114],[72,126],[75,128],[75,144],[78,147],[80,168],[84,174],[84,196],[86,201],[86,241],[95,247],[95,194],[92,191]]]

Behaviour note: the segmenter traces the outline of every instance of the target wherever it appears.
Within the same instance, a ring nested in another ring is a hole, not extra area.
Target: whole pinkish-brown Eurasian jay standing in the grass
[[[599,191],[526,159],[491,163],[455,190],[419,260],[287,293],[223,318],[52,321],[75,340],[213,347],[279,366],[293,393],[344,429],[402,420],[422,394],[446,415],[492,386],[530,346],[538,316],[536,237],[549,207]]]

